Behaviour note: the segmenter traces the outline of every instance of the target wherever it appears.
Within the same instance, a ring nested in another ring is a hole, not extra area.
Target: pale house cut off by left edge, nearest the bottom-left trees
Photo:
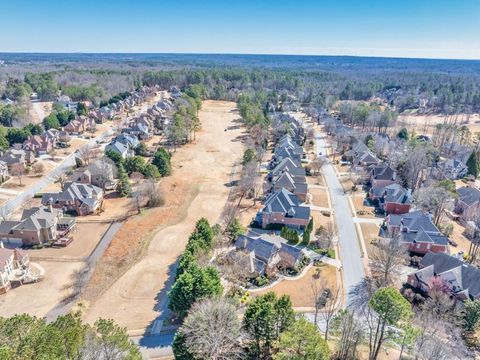
[[[25,250],[6,249],[0,244],[0,294],[12,288],[12,283],[21,283],[30,271],[30,259]]]

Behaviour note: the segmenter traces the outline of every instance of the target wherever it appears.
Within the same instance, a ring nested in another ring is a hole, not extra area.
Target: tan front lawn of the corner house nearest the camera
[[[256,292],[255,295],[265,294],[273,291],[277,295],[289,295],[292,304],[296,308],[312,308],[315,306],[314,296],[311,291],[311,284],[315,281],[316,269],[320,269],[320,279],[324,279],[326,286],[331,290],[337,286],[337,269],[333,266],[322,264],[319,267],[312,266],[307,273],[298,280],[284,280],[265,291]]]

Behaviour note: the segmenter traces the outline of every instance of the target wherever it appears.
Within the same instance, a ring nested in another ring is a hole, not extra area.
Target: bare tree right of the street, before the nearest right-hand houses
[[[369,256],[372,277],[378,287],[389,286],[398,279],[407,252],[398,238],[379,241]]]

